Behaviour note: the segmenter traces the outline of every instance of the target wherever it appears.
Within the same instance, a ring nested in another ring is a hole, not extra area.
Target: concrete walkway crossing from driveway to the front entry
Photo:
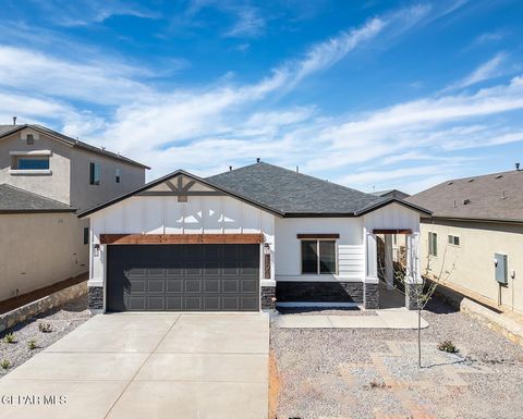
[[[405,308],[376,310],[376,316],[275,315],[283,329],[417,329],[417,312]],[[428,323],[422,318],[422,329]]]

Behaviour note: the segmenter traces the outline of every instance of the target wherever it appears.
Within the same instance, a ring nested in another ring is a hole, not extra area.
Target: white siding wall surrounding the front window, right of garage
[[[297,234],[339,234],[336,275],[302,274]],[[360,218],[276,219],[277,281],[361,282],[365,276],[363,220]]]

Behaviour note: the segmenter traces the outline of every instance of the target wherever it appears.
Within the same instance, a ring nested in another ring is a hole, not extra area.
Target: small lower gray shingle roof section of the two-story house
[[[76,210],[66,204],[4,183],[0,184],[0,213],[74,211]]]

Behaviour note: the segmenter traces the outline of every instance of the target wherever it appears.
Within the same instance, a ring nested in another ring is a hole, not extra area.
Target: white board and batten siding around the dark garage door
[[[90,229],[93,245],[100,243],[100,234],[263,233],[271,247],[273,281],[275,217],[228,196],[190,196],[187,202],[179,202],[174,196],[133,196],[92,214]],[[90,283],[101,284],[104,248],[98,257],[92,251],[90,258]]]

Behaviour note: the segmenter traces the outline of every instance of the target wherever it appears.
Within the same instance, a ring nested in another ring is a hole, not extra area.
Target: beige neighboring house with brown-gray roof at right
[[[447,181],[406,200],[433,211],[422,218],[422,271],[450,273],[446,287],[523,311],[523,171]]]

